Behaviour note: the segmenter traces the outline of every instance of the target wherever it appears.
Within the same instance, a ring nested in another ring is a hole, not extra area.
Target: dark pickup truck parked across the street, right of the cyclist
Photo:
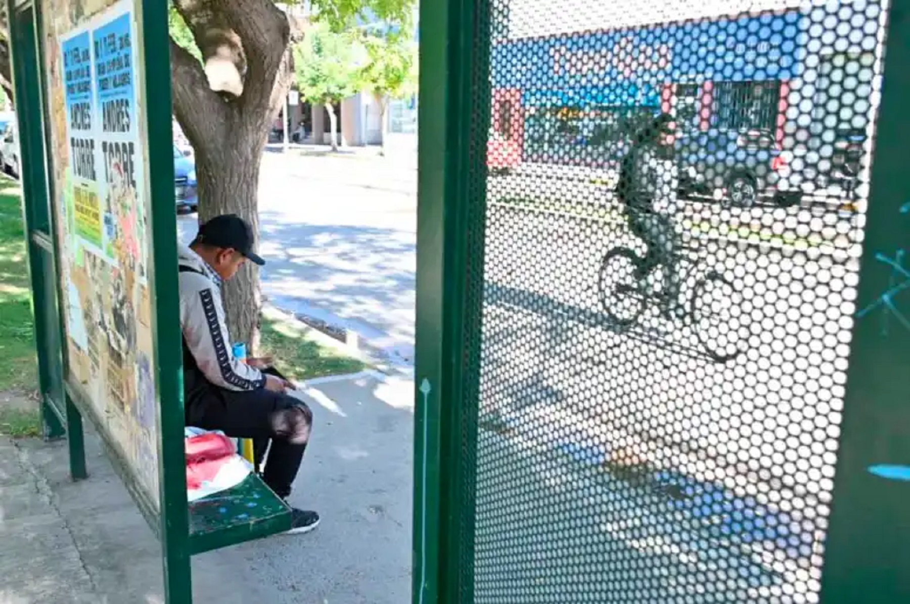
[[[750,207],[760,196],[777,206],[800,203],[802,191],[790,186],[781,146],[768,130],[719,130],[683,134],[676,142],[680,192],[713,196],[725,205]]]

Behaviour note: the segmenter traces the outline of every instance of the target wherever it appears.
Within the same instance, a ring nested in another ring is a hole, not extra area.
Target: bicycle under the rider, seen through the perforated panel
[[[697,255],[673,256],[676,278],[682,285],[656,289],[651,283],[655,266],[630,247],[613,247],[603,257],[598,291],[607,317],[615,327],[639,323],[645,309],[657,304],[662,315],[693,328],[704,351],[723,363],[741,355],[749,334],[743,293],[719,270],[699,274]],[[689,295],[686,284],[694,282]]]

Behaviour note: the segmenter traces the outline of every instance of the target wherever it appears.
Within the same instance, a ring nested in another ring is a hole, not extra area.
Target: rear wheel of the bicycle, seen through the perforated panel
[[[613,325],[629,327],[642,314],[645,297],[638,278],[642,259],[627,247],[607,252],[601,263],[598,289],[601,305]]]

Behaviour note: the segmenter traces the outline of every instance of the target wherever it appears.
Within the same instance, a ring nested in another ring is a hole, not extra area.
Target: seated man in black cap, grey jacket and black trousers
[[[189,247],[177,250],[186,421],[229,437],[253,438],[257,448],[271,439],[262,478],[287,500],[313,414],[303,401],[286,394],[293,388],[290,383],[234,357],[221,303],[221,283],[234,277],[240,265],[265,264],[253,249],[253,229],[229,214],[209,220]],[[318,524],[316,512],[292,508],[290,532],[308,532]]]

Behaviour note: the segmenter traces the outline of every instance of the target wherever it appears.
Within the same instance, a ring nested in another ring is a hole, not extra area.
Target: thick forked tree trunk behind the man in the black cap
[[[199,219],[238,214],[259,232],[259,163],[288,95],[296,20],[272,0],[174,0],[205,68],[171,41],[174,116],[196,151]],[[233,342],[258,354],[258,267],[245,263],[223,288]]]

